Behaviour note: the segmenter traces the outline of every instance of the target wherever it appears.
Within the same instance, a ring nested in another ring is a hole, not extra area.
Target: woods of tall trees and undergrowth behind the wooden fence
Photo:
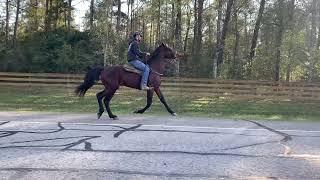
[[[319,0],[89,0],[84,25],[72,1],[0,0],[0,71],[124,64],[140,31],[185,54],[167,76],[320,80]]]

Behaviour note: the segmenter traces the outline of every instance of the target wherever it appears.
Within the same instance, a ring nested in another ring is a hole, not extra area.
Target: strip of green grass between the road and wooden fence
[[[86,97],[78,98],[72,89],[1,87],[0,111],[96,113],[96,92],[89,90]],[[114,114],[130,114],[146,103],[144,92],[119,93],[111,101]],[[183,116],[271,120],[318,120],[320,117],[319,103],[244,101],[180,93],[167,95],[166,99],[172,109]],[[146,113],[168,114],[156,96]]]

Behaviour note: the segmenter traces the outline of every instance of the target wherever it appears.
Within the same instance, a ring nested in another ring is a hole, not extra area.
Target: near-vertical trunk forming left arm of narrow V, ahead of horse
[[[221,38],[221,19],[222,19],[222,1],[218,1],[218,19],[217,19],[217,34],[216,34],[216,46],[214,48],[214,54],[213,54],[213,71],[212,71],[212,77],[214,79],[217,78],[217,68],[218,68],[218,51],[219,51],[219,45],[220,45],[220,38]]]

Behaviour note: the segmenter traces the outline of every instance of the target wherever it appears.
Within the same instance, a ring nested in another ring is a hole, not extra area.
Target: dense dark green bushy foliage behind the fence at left
[[[101,65],[97,47],[87,32],[64,30],[38,32],[26,36],[15,49],[0,54],[1,71],[73,72]]]

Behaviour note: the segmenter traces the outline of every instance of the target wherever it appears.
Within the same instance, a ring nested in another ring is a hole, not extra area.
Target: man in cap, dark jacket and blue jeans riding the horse
[[[150,56],[150,53],[141,52],[139,49],[139,43],[141,42],[141,34],[139,32],[135,32],[133,34],[133,40],[130,42],[128,49],[128,62],[136,69],[142,71],[142,78],[140,83],[141,90],[152,90],[152,87],[147,86],[150,68],[148,65],[144,64],[140,58],[144,56]]]

